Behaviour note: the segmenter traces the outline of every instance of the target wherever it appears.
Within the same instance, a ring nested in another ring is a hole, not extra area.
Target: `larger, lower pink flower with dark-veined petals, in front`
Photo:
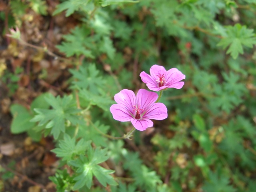
[[[115,120],[131,121],[132,125],[140,131],[153,126],[150,119],[163,120],[167,118],[167,108],[163,103],[155,103],[158,94],[140,89],[135,96],[134,92],[123,89],[114,97],[117,104],[110,107]]]

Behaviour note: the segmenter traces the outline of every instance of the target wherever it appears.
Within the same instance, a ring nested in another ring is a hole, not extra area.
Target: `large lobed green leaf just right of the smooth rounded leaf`
[[[55,98],[50,94],[45,97],[45,100],[53,109],[35,108],[34,111],[37,115],[30,121],[38,122],[39,126],[51,128],[51,134],[53,134],[55,139],[59,137],[60,132],[65,132],[65,120],[70,121],[74,125],[82,123],[79,116],[76,116],[81,110],[76,108],[76,102],[73,100],[72,95]]]

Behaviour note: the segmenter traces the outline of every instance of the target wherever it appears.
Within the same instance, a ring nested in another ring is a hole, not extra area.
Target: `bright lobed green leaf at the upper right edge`
[[[244,53],[242,46],[252,48],[256,44],[256,36],[253,33],[253,29],[247,29],[246,26],[241,26],[240,24],[227,26],[226,34],[220,40],[218,46],[222,46],[224,49],[229,46],[227,54],[231,54],[234,59],[238,57],[238,54]]]

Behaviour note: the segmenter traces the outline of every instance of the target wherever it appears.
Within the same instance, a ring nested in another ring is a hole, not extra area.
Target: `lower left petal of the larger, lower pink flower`
[[[110,107],[110,112],[112,113],[113,118],[115,120],[118,120],[121,122],[130,121],[132,118],[132,116],[129,114],[129,112],[126,110],[126,108],[124,108],[120,104],[113,104]]]

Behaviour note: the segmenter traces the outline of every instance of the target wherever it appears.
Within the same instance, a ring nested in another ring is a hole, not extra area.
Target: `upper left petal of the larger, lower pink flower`
[[[128,112],[134,113],[133,105],[136,105],[136,96],[133,91],[128,89],[123,89],[114,96],[115,101],[119,106],[125,108]]]

